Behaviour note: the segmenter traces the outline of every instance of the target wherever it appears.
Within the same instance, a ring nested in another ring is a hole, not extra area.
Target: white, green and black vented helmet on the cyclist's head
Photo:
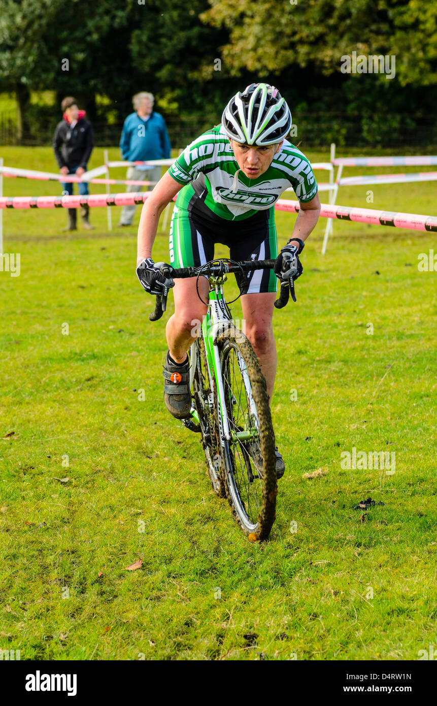
[[[222,126],[236,142],[265,147],[287,136],[292,115],[275,86],[251,83],[229,100],[222,114]]]

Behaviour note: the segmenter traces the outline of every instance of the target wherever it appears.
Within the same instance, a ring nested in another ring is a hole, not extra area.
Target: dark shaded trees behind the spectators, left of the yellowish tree
[[[30,90],[54,90],[58,104],[74,95],[91,119],[96,94],[121,118],[139,90],[152,90],[169,112],[208,112],[215,91],[205,94],[196,71],[205,53],[213,64],[228,35],[200,23],[205,9],[208,0],[4,0],[0,90],[15,90],[25,131]]]

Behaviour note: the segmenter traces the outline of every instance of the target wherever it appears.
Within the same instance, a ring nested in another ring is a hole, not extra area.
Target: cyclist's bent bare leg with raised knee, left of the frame
[[[199,294],[208,301],[209,284],[205,277],[199,278]],[[174,314],[167,322],[165,333],[169,352],[175,363],[183,363],[191,343],[196,340],[199,323],[208,309],[196,292],[196,278],[175,280],[173,287]],[[192,335],[193,331],[196,335]]]

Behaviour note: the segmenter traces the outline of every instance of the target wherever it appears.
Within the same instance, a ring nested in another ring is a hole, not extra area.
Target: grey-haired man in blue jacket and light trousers
[[[151,93],[140,92],[133,96],[134,112],[127,116],[121,132],[121,157],[126,162],[168,160],[170,140],[164,118],[153,110]],[[136,164],[128,167],[126,179],[132,181],[160,181],[161,167]],[[127,186],[126,191],[148,191],[153,186]],[[119,226],[131,225],[136,206],[124,206]]]

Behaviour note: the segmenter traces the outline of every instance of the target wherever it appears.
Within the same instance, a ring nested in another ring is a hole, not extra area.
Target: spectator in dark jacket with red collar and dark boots
[[[56,126],[53,138],[53,149],[59,170],[64,177],[67,174],[76,174],[81,177],[87,171],[87,162],[90,159],[94,138],[92,126],[85,120],[85,111],[78,109],[76,98],[68,96],[61,103],[64,119]],[[73,193],[73,184],[62,184],[64,193]],[[79,184],[80,196],[88,195],[88,184],[83,181]],[[87,205],[80,211],[83,227],[90,229],[90,208]],[[68,208],[68,226],[63,230],[76,230],[76,208]]]

